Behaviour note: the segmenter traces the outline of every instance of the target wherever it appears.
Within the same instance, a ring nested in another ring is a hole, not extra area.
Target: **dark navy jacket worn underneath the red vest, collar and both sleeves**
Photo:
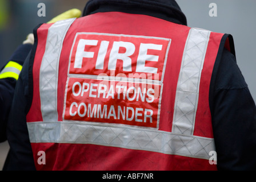
[[[186,17],[177,3],[166,0],[93,0],[87,3],[83,15],[107,11],[146,14],[186,25]],[[236,64],[234,51],[225,49],[219,56],[221,59],[214,65],[209,95],[217,167],[227,170],[256,169],[256,107]],[[5,170],[35,169],[26,128],[26,113],[32,97],[28,94],[32,64],[30,59],[26,60],[17,82],[15,104],[8,123],[10,152]]]

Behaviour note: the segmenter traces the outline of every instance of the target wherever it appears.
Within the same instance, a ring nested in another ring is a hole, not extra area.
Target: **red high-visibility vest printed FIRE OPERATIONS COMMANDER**
[[[38,170],[217,169],[209,88],[227,35],[110,12],[42,24],[35,38]]]

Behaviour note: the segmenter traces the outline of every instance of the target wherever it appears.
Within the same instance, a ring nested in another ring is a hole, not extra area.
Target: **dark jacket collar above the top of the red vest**
[[[83,16],[109,11],[150,15],[187,25],[186,16],[175,0],[90,0],[83,10]]]

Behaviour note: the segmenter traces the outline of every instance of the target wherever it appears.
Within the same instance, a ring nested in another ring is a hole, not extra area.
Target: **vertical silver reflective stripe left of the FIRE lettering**
[[[43,121],[57,121],[57,90],[59,56],[66,32],[75,18],[54,23],[48,31],[45,54],[39,77],[39,92]]]

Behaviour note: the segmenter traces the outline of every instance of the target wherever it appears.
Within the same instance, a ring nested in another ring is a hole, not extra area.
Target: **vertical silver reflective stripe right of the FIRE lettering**
[[[191,28],[183,53],[175,97],[173,133],[193,135],[199,84],[210,31]]]

